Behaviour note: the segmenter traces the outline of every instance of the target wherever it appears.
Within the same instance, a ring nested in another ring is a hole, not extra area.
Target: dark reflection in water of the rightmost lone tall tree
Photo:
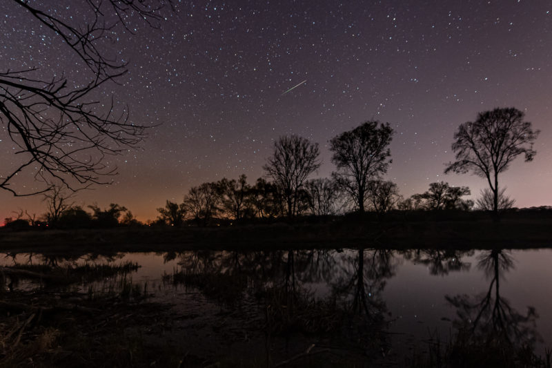
[[[478,267],[490,280],[486,293],[475,298],[465,294],[445,297],[457,313],[451,358],[466,364],[476,359],[478,364],[487,366],[532,366],[534,345],[540,340],[536,332],[538,315],[533,307],[527,307],[526,313],[516,311],[500,295],[504,273],[514,267],[510,251],[483,251]]]

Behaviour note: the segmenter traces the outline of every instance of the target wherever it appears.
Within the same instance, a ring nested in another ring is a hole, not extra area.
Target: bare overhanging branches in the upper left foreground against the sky
[[[59,47],[66,48],[82,69],[71,79],[65,70],[55,70],[57,60],[45,63],[54,68],[48,71],[4,64],[0,70],[0,123],[21,158],[0,173],[0,188],[14,195],[32,195],[48,191],[55,182],[69,188],[108,183],[102,177],[115,175],[117,169],[104,157],[137,146],[144,137],[144,126],[130,122],[128,109],[117,108],[114,99],[97,100],[99,88],[126,73],[124,61],[107,56],[106,40],[117,24],[131,32],[127,25],[135,18],[158,26],[162,19],[158,10],[170,1],[81,0],[82,17],[72,14],[75,19],[64,17],[56,6],[9,1],[21,18],[36,23]],[[43,186],[22,193],[16,182],[21,173],[33,173]]]

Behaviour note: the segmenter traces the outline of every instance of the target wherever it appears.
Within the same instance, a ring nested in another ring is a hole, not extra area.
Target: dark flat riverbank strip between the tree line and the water
[[[552,219],[351,221],[238,226],[0,231],[1,251],[182,251],[188,249],[493,249],[552,246]]]

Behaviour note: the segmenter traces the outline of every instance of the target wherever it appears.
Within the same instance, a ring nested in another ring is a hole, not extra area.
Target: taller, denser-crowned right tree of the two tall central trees
[[[330,141],[332,162],[337,171],[335,181],[344,188],[358,211],[364,212],[368,180],[386,173],[391,164],[389,144],[393,129],[388,123],[366,122],[353,130],[341,133]]]

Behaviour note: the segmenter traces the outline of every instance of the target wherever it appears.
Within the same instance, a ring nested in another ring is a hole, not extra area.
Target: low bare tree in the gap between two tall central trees
[[[305,184],[308,194],[308,208],[313,215],[334,215],[339,199],[339,187],[333,180],[327,178],[308,180]]]

